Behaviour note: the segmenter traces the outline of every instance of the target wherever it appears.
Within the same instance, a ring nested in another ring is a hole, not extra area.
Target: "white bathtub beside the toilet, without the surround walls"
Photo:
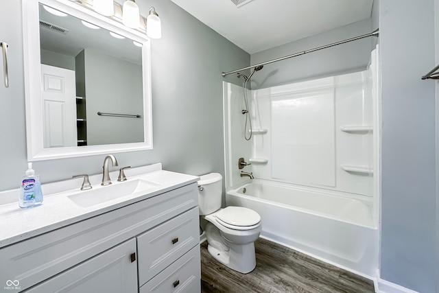
[[[375,277],[378,229],[367,201],[255,179],[227,191],[226,204],[257,211],[265,239]]]

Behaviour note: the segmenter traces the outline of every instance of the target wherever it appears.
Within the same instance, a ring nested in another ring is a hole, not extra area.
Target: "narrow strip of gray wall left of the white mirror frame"
[[[9,44],[8,89],[3,84],[3,59],[0,60],[1,191],[19,187],[27,164],[21,1],[1,0],[0,5],[0,41]]]

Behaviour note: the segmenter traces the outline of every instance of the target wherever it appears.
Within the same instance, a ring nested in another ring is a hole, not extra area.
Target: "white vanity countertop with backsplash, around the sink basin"
[[[147,191],[115,198],[91,207],[80,207],[67,196],[78,193],[82,178],[41,185],[43,204],[31,209],[19,208],[19,189],[0,192],[0,248],[140,200],[152,198],[172,189],[195,183],[199,179],[197,176],[162,170],[160,163],[126,169],[125,174],[128,180],[143,179],[157,183],[157,185]],[[117,182],[117,176],[117,171],[110,172],[112,185],[123,184]],[[105,188],[100,187],[101,179],[102,174],[90,176],[94,189]],[[13,201],[11,198],[14,198]]]

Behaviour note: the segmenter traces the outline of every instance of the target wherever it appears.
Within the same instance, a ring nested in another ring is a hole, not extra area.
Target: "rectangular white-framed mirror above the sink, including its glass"
[[[71,1],[23,0],[23,35],[29,161],[152,148],[145,34]]]

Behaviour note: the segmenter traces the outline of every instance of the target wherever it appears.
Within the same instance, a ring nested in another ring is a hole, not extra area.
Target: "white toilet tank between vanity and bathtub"
[[[200,215],[209,215],[221,208],[222,176],[219,173],[209,173],[200,176],[198,180],[198,207]]]

